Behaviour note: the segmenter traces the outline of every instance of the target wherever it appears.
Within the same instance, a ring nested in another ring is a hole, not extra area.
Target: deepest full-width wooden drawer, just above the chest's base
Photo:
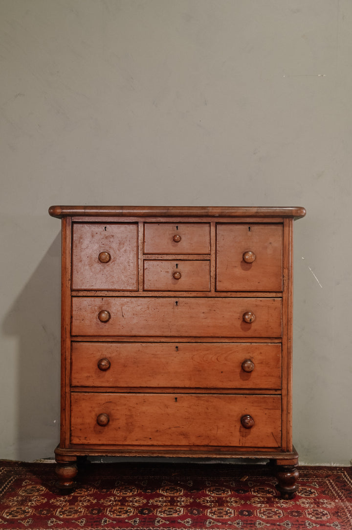
[[[279,447],[281,396],[74,392],[71,444]]]

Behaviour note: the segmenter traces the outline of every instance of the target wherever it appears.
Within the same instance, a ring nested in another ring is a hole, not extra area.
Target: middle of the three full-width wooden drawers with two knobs
[[[281,388],[281,344],[74,342],[71,385]]]

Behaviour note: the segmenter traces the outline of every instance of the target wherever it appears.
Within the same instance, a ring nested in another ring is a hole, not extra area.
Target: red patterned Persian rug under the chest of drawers
[[[351,530],[350,467],[300,467],[281,500],[268,465],[87,464],[60,494],[55,464],[0,461],[0,529]]]

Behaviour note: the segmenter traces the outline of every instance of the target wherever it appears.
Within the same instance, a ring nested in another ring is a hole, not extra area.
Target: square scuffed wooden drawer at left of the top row
[[[74,223],[72,288],[136,290],[137,249],[137,224]]]

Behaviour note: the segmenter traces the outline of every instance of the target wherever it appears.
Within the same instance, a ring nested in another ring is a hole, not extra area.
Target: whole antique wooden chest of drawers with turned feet
[[[292,232],[304,208],[52,206],[58,485],[86,455],[268,458],[297,490]]]

